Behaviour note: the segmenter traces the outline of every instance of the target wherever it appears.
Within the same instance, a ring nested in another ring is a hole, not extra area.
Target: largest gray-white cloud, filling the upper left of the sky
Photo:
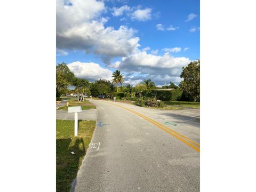
[[[81,50],[100,55],[109,64],[111,58],[125,57],[137,51],[139,37],[136,30],[126,26],[105,27],[108,18],[100,18],[105,11],[103,2],[95,0],[57,0],[57,48]]]

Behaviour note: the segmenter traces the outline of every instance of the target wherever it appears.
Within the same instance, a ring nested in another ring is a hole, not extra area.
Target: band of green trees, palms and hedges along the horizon
[[[143,82],[132,86],[124,83],[124,75],[119,70],[114,71],[112,80],[98,79],[95,82],[89,82],[83,78],[75,77],[69,70],[66,63],[60,63],[56,66],[56,97],[66,93],[76,92],[77,95],[105,95],[108,98],[131,99],[139,97],[156,98],[163,101],[197,101],[200,95],[200,61],[190,62],[187,67],[182,68],[180,75],[183,81],[178,85],[170,82],[169,85],[156,87],[151,79],[145,79]],[[69,90],[68,87],[75,86],[75,90]],[[162,91],[158,89],[173,89],[171,91]],[[79,100],[79,97],[78,97]],[[80,101],[83,100],[83,96]]]

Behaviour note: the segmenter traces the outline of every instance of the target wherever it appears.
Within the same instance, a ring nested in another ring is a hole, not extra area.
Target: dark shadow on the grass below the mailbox
[[[75,154],[71,154],[73,151]],[[86,153],[82,138],[56,140],[56,191],[68,192]]]

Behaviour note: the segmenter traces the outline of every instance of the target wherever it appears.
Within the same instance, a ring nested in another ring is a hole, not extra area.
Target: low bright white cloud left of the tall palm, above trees
[[[76,61],[69,63],[68,68],[78,78],[85,78],[89,81],[96,81],[99,78],[111,80],[112,71],[102,68],[98,63]]]

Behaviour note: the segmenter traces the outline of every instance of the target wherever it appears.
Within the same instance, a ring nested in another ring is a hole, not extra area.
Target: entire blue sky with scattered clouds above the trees
[[[77,77],[179,84],[199,55],[199,1],[57,0],[57,63]]]

